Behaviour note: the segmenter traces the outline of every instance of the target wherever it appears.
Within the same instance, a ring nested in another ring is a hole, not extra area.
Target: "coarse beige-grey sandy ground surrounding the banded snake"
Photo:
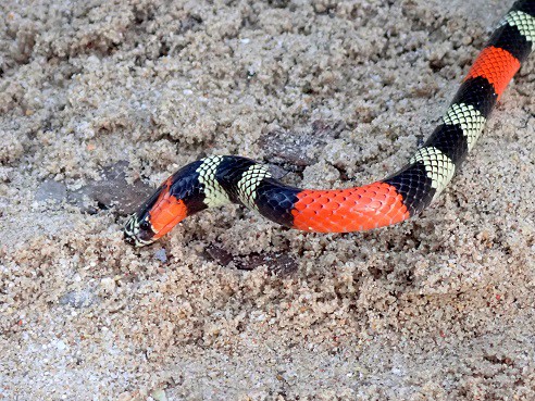
[[[534,400],[533,58],[409,223],[314,235],[225,206],[141,250],[121,233],[206,154],[383,178],[509,5],[2,1],[0,399]]]

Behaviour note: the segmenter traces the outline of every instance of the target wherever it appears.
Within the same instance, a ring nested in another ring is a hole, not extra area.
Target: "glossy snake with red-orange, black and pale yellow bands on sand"
[[[238,203],[289,228],[351,233],[403,222],[444,191],[474,148],[506,87],[535,43],[535,0],[515,1],[498,23],[431,136],[399,171],[354,188],[301,189],[262,163],[210,155],[171,175],[124,225],[135,247],[150,245],[185,217]]]

